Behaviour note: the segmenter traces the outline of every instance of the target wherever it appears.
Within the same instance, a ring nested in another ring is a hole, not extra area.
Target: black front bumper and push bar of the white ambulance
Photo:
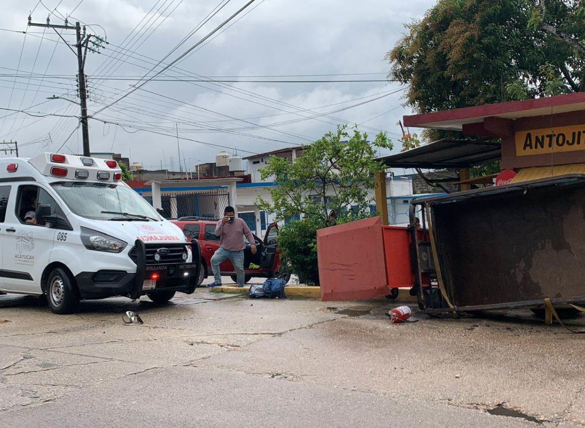
[[[112,296],[140,296],[159,291],[181,291],[191,294],[195,287],[190,285],[191,277],[198,277],[201,266],[201,249],[197,240],[191,241],[191,263],[146,264],[146,247],[136,240],[136,272],[101,270],[81,272],[75,276],[82,299],[100,299]],[[143,291],[145,279],[154,272],[158,274],[157,287]],[[188,275],[185,275],[185,272]]]

